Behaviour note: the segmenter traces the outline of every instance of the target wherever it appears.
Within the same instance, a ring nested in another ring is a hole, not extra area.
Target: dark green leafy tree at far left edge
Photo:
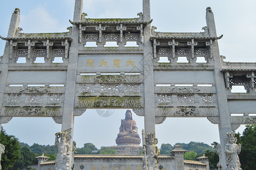
[[[14,135],[7,135],[5,130],[1,129],[0,143],[5,145],[5,153],[2,154],[1,160],[2,170],[7,170],[21,157],[19,140]]]

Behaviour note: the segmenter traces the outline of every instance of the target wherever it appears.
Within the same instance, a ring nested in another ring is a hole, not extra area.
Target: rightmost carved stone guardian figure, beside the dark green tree
[[[241,144],[237,145],[237,138],[234,137],[235,131],[227,133],[228,140],[225,145],[225,154],[226,154],[226,165],[228,170],[242,170],[240,168],[240,160],[238,154],[241,152]]]

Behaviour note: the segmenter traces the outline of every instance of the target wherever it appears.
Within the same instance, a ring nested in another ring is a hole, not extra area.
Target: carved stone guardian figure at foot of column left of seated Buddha
[[[55,146],[58,147],[55,170],[69,170],[69,160],[72,148],[69,145],[71,136],[66,131],[56,133]],[[60,141],[58,141],[60,139]]]

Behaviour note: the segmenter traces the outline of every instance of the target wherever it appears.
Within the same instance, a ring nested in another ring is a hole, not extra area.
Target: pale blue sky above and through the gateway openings
[[[0,35],[7,36],[11,14],[20,8],[20,27],[23,32],[65,32],[73,20],[74,0],[44,1],[2,1],[0,11]],[[151,14],[157,31],[201,32],[205,23],[205,8],[210,6],[215,14],[220,53],[230,62],[256,62],[254,53],[256,39],[256,1],[170,1],[152,0]],[[88,18],[135,18],[142,11],[142,0],[84,0],[83,12]],[[0,56],[3,55],[5,41],[0,40]],[[110,111],[110,117],[101,117],[94,110],[75,118],[74,141],[78,147],[92,142],[96,147],[115,145],[120,119],[125,110]],[[139,131],[144,126],[143,117],[133,114]],[[239,130],[242,132],[243,127]],[[29,145],[54,145],[54,134],[61,130],[52,118],[13,118],[3,128]],[[159,143],[205,142],[209,145],[219,142],[218,126],[207,118],[167,118],[156,125]],[[207,135],[205,135],[207,134]]]

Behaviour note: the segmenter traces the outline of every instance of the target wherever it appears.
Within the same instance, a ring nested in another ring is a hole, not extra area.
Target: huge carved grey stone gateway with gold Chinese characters
[[[0,36],[6,40],[0,62],[0,124],[12,117],[52,117],[62,124],[60,131],[71,128],[72,137],[74,116],[86,108],[129,108],[145,118],[145,164],[153,170],[158,169],[155,124],[166,117],[207,117],[219,125],[219,165],[232,169],[226,164],[226,133],[256,124],[256,64],[223,61],[217,43],[222,35],[217,36],[210,7],[203,32],[157,32],[151,27],[150,0],[142,1],[137,18],[90,19],[82,13],[83,1],[75,0],[72,26],[64,33],[20,32],[16,8],[7,37]],[[118,46],[107,48],[108,41]],[[129,41],[138,46],[125,46]],[[86,47],[87,42],[96,47]],[[45,62],[34,63],[37,57]],[[170,62],[162,63],[162,57]],[[179,63],[182,57],[188,63]],[[200,57],[205,63],[198,62]],[[63,62],[52,63],[55,58]],[[244,86],[247,94],[231,93],[233,86]],[[72,145],[65,142],[73,157]],[[72,168],[73,159],[66,160],[66,169]],[[179,153],[174,167],[184,168]]]

